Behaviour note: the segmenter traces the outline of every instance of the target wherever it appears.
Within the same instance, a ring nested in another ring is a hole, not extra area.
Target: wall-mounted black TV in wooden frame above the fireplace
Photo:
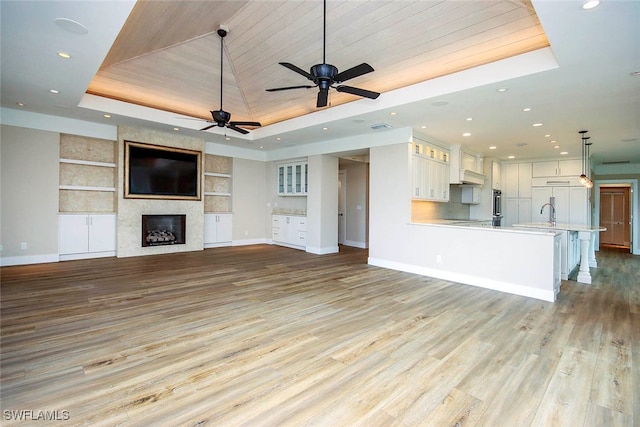
[[[200,200],[200,151],[124,144],[125,198]]]

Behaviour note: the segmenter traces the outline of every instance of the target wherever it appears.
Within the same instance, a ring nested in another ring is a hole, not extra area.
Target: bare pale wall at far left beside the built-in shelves
[[[4,125],[0,133],[1,265],[57,261],[60,134]]]

